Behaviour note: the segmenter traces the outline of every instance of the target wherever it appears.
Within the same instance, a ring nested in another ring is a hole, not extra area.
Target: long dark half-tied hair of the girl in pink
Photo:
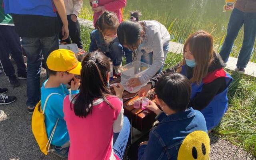
[[[102,52],[96,50],[88,53],[82,61],[80,92],[73,98],[74,113],[79,117],[92,114],[93,100],[103,98],[113,108],[106,97],[111,94],[108,89],[107,74],[110,61]],[[72,107],[70,106],[72,109]]]

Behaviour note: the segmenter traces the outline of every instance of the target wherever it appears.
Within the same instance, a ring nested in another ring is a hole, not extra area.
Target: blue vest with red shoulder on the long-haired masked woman
[[[181,74],[185,76],[186,76],[186,68],[187,66],[182,66]],[[209,73],[204,79],[207,79],[209,82],[209,81],[215,80],[218,77],[225,77],[226,89],[221,93],[215,95],[212,101],[208,104],[208,106],[200,110],[200,112],[202,112],[202,114],[204,115],[207,130],[211,130],[212,128],[216,127],[228,109],[227,93],[228,93],[228,86],[231,84],[233,80],[232,77],[221,68],[213,71],[213,74]],[[196,83],[193,83],[191,85],[192,87],[192,93],[190,97],[191,99],[193,99],[196,96],[196,94],[202,91],[203,85],[205,83],[206,82],[203,80],[199,85]]]

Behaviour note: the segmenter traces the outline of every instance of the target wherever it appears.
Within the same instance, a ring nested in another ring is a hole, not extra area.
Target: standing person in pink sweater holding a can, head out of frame
[[[95,0],[90,0],[90,5],[92,6],[92,1]],[[119,23],[122,22],[123,14],[122,14],[122,8],[126,6],[126,0],[98,0],[98,7],[93,8],[92,10],[94,12],[93,15],[93,24],[94,27],[96,26],[96,22],[102,12],[105,10],[114,12],[116,16],[118,17]]]

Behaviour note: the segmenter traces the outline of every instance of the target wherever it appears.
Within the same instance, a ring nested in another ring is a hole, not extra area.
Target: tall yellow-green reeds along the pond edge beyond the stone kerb
[[[172,16],[172,10],[173,8],[170,8],[168,12],[164,16],[159,15],[157,12],[152,12],[152,10],[147,10],[147,8],[141,8],[142,11],[142,17],[141,20],[157,20],[164,24],[171,35],[171,40],[173,42],[178,42],[184,44],[185,40],[188,38],[188,36],[194,32],[196,32],[199,29],[206,30],[207,32],[210,32],[212,36],[214,37],[214,48],[218,52],[220,51],[220,48],[222,47],[222,44],[224,42],[226,34],[226,29],[223,32],[219,32],[220,28],[216,24],[209,24],[207,26],[203,26],[204,21],[204,15],[203,18],[198,19],[199,12],[202,12],[200,10],[195,10],[192,12],[192,14],[187,15],[185,18],[176,18]],[[129,12],[130,10],[124,10],[124,19],[129,19]],[[203,13],[204,14],[204,13]],[[84,6],[81,10],[81,13],[79,15],[80,18],[84,18],[87,20],[93,20],[93,12],[92,9],[88,6]],[[221,22],[220,22],[221,23]],[[226,27],[226,26],[225,26]],[[238,33],[238,38],[234,41],[234,47],[232,49],[232,52],[230,56],[232,57],[238,57],[239,51],[242,47],[242,41],[243,41],[243,29],[240,30]],[[256,44],[254,45],[254,48],[256,48]],[[252,52],[252,56],[250,58],[251,62],[256,62],[256,50]]]

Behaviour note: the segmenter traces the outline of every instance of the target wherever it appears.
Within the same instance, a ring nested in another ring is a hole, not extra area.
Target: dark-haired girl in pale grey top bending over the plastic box
[[[118,26],[119,42],[133,52],[133,61],[151,64],[145,74],[131,78],[129,87],[147,83],[155,74],[162,71],[168,53],[170,34],[164,25],[155,20],[139,21],[140,12],[131,12],[130,20]]]

